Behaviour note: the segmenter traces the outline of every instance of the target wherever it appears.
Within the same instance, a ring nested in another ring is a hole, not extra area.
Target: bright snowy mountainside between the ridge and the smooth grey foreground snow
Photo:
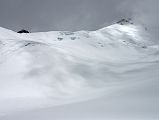
[[[0,115],[159,85],[158,66],[159,45],[135,25],[29,34],[0,28]]]

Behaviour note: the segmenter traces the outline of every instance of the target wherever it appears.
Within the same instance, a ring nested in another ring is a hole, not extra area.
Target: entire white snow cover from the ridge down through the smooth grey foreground
[[[0,120],[159,119],[159,45],[140,26],[0,28]]]

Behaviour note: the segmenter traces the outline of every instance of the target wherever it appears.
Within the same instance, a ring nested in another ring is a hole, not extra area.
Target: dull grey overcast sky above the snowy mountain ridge
[[[0,26],[31,31],[96,30],[133,17],[159,21],[159,0],[0,0]]]

